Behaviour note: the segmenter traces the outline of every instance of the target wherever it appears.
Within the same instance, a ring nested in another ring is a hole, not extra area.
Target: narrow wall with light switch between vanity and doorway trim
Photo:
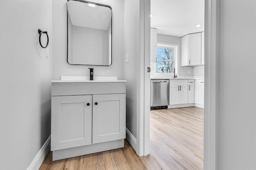
[[[137,1],[124,0],[124,56],[129,53],[129,63],[124,61],[126,83],[126,127],[137,135]]]

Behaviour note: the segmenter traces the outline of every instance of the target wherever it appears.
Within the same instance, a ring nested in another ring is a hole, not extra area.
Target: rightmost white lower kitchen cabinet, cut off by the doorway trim
[[[195,84],[195,104],[204,107],[204,80],[196,80]]]

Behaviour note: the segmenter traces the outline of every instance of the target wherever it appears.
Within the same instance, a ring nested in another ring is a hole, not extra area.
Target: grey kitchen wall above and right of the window
[[[193,76],[194,68],[193,67],[186,67],[181,66],[181,37],[176,37],[172,35],[164,35],[164,34],[157,34],[157,42],[161,43],[172,43],[179,45],[179,56],[178,56],[178,76]],[[188,73],[190,70],[190,73]]]

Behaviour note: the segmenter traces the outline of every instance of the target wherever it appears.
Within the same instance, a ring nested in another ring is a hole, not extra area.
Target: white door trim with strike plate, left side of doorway
[[[149,154],[150,143],[150,1],[137,0],[137,137],[136,152],[139,156]]]

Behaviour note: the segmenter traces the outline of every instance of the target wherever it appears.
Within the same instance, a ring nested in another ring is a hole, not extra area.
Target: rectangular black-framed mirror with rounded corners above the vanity
[[[84,0],[68,0],[68,63],[110,66],[112,8]]]

